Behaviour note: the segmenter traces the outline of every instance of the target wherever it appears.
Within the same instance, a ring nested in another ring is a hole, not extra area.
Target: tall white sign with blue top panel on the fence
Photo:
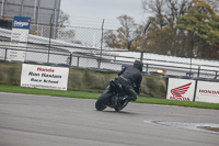
[[[12,34],[11,34],[11,44],[8,50],[8,60],[20,60],[24,61],[25,59],[25,49],[26,42],[28,40],[28,29],[31,24],[31,18],[14,16]]]

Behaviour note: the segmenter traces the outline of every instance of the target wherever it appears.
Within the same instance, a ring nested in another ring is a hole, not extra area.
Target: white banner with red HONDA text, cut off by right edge
[[[195,101],[219,103],[219,82],[198,81]]]

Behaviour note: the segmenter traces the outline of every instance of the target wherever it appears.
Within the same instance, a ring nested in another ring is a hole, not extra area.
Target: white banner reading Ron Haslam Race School
[[[21,86],[67,90],[69,68],[41,65],[22,65]]]

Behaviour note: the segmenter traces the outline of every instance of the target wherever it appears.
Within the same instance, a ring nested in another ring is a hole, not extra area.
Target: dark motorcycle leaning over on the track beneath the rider
[[[119,112],[128,103],[128,97],[125,94],[122,85],[114,79],[110,81],[107,89],[96,100],[95,109],[97,111],[103,111],[108,106]]]

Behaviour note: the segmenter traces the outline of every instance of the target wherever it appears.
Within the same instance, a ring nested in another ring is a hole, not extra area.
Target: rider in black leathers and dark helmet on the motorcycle
[[[129,100],[136,101],[138,94],[140,93],[142,66],[141,61],[135,60],[132,66],[126,67],[118,72],[118,81],[122,83]]]

